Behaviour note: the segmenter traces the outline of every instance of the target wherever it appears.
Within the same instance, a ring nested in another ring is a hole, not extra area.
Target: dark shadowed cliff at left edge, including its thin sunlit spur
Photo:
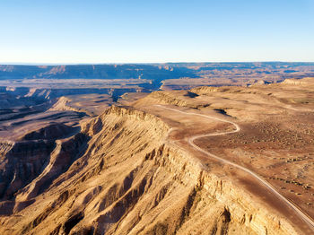
[[[51,181],[54,179],[52,175],[57,178],[67,170],[76,160],[79,146],[88,140],[88,136],[82,133],[75,134],[78,130],[53,123],[25,134],[19,141],[0,143],[0,199],[5,201],[21,197],[27,185],[34,184],[47,171],[50,177],[46,177],[46,181]],[[28,196],[24,199],[27,200]],[[2,212],[5,213],[13,212]]]

